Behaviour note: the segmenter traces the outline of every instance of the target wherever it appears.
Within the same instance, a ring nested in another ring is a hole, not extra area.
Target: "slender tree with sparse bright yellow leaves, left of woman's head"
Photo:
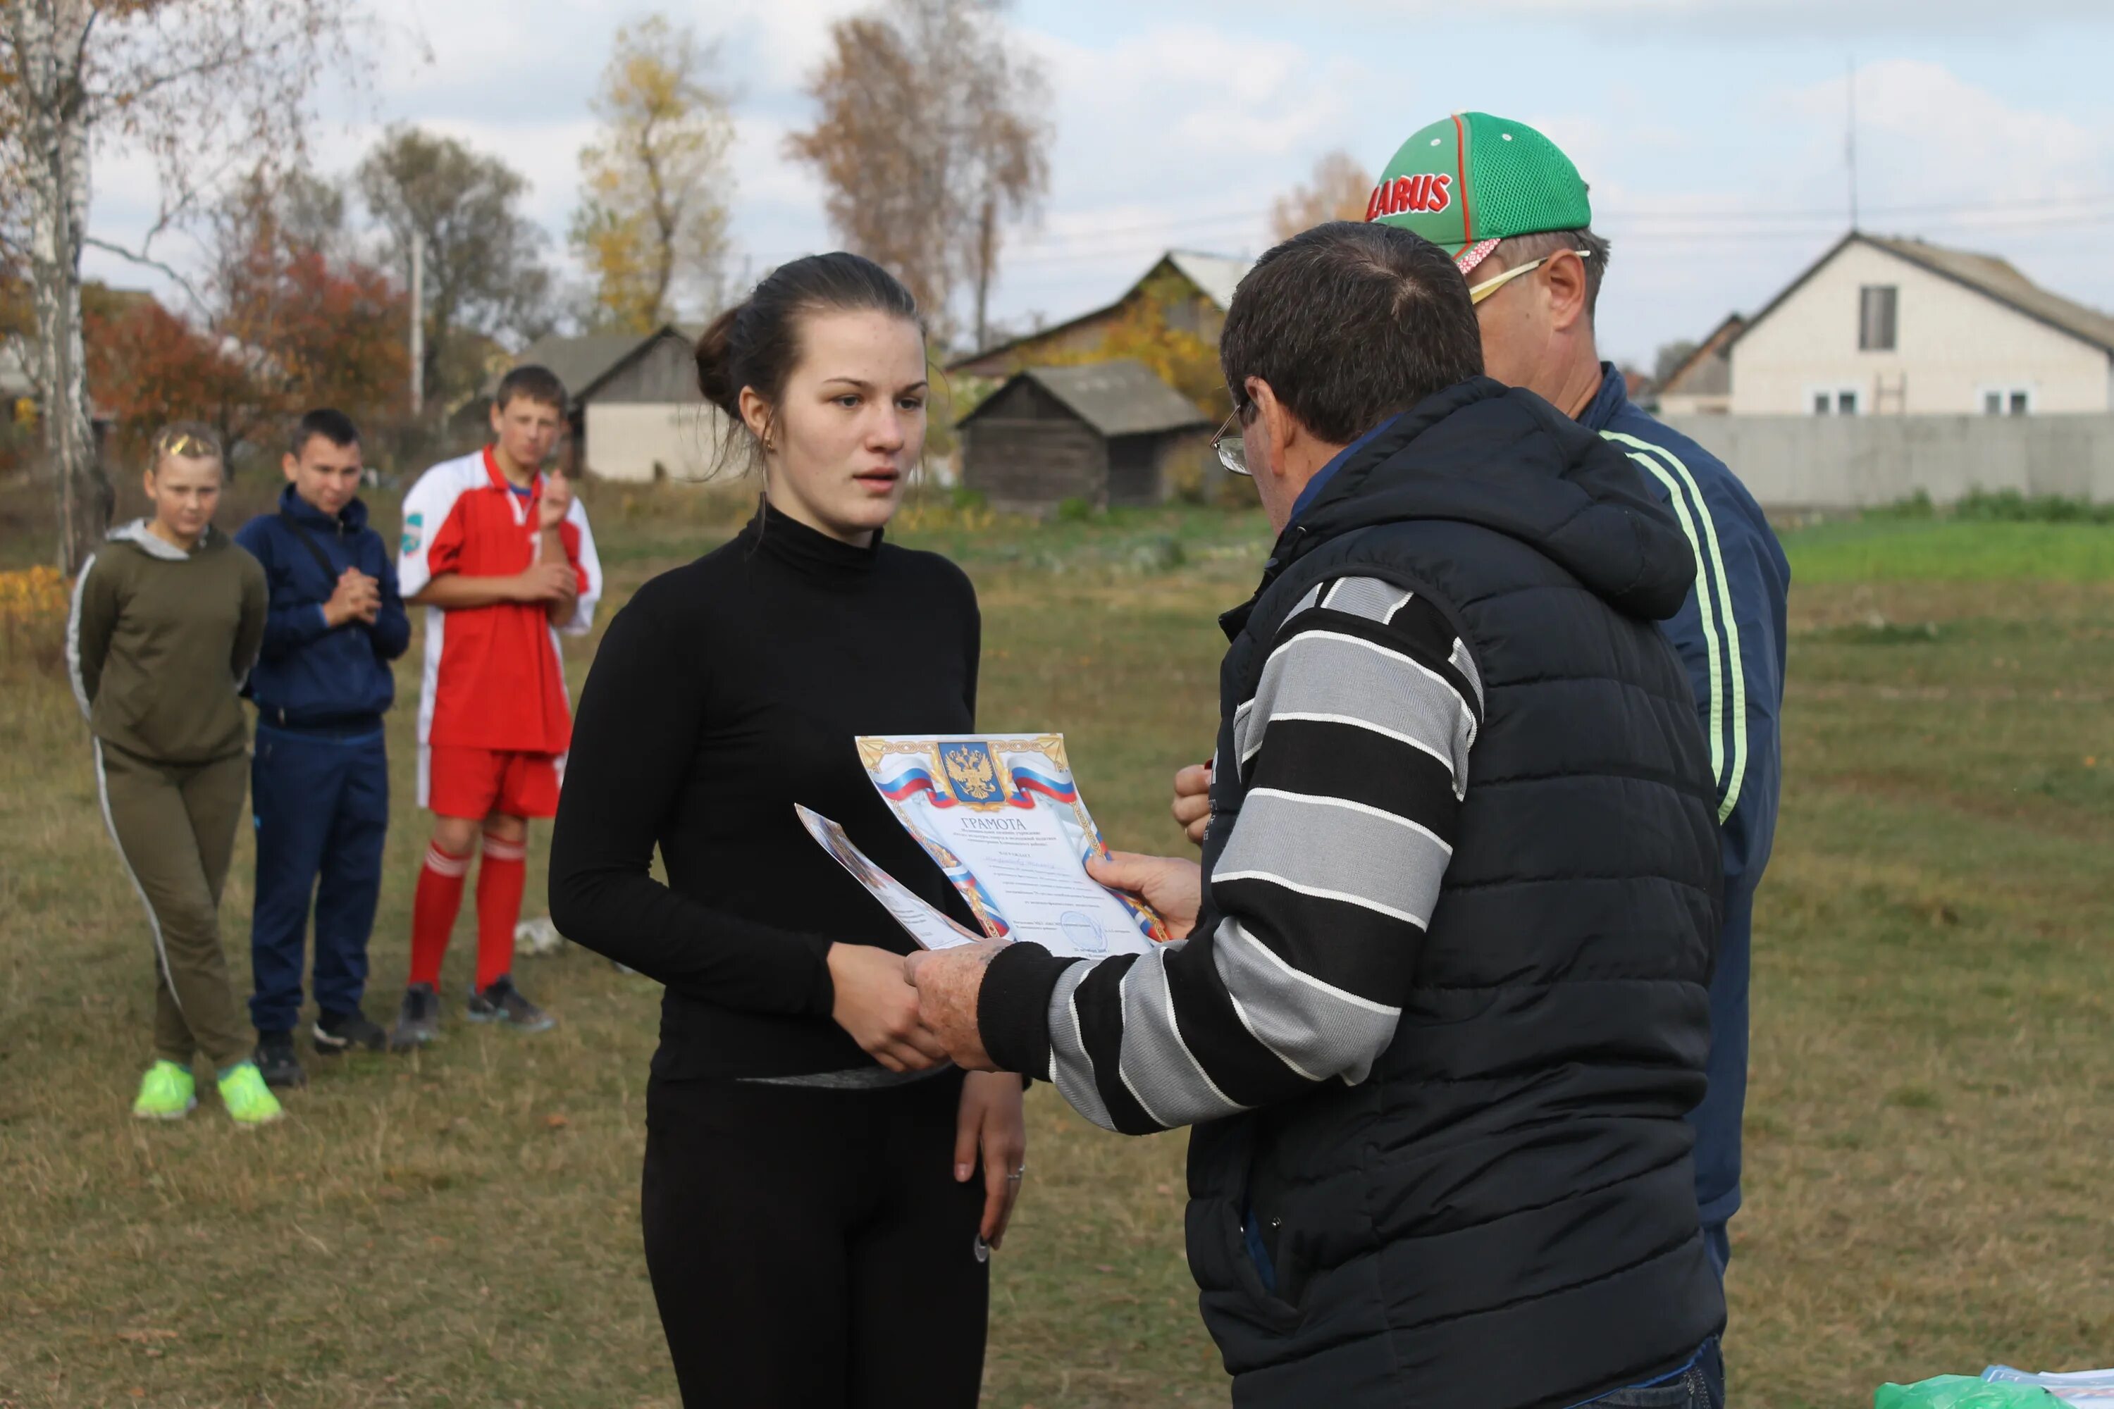
[[[734,120],[710,82],[717,53],[687,25],[653,15],[617,30],[579,150],[573,251],[615,327],[651,332],[681,302],[719,302],[727,256]]]

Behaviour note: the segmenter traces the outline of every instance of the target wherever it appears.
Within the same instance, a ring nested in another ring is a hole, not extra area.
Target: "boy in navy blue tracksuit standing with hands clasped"
[[[249,676],[258,706],[249,796],[258,832],[249,961],[258,1069],[300,1086],[294,1054],[309,896],[315,896],[317,1052],[381,1050],[385,1033],[359,1012],[368,934],[389,830],[383,712],[395,699],[389,661],[410,644],[395,562],[368,528],[359,499],[359,431],[334,410],[294,429],[275,513],[235,541],[264,564],[271,613]]]

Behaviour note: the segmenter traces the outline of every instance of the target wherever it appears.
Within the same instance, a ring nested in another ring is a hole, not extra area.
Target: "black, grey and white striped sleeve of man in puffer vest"
[[[1239,758],[1220,767],[1239,767],[1243,803],[1190,938],[1044,959],[1046,1046],[985,1046],[1123,1132],[1364,1082],[1452,858],[1480,714],[1473,659],[1431,602],[1370,577],[1315,587],[1235,716]]]

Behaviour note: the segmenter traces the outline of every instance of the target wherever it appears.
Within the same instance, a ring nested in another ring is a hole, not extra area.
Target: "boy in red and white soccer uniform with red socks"
[[[397,579],[404,602],[427,608],[419,805],[433,811],[433,841],[412,900],[395,1052],[440,1035],[440,961],[480,830],[478,978],[465,1012],[531,1033],[552,1027],[514,987],[514,925],[528,818],[558,811],[573,737],[558,632],[583,634],[602,596],[586,509],[562,477],[539,473],[564,399],[545,368],[514,368],[493,397],[493,444],[425,471],[404,499]]]

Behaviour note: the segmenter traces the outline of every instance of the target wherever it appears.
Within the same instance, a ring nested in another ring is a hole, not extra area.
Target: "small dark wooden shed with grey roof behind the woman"
[[[1023,368],[962,416],[962,484],[994,509],[1040,513],[1165,501],[1169,458],[1201,452],[1211,422],[1129,357]]]

